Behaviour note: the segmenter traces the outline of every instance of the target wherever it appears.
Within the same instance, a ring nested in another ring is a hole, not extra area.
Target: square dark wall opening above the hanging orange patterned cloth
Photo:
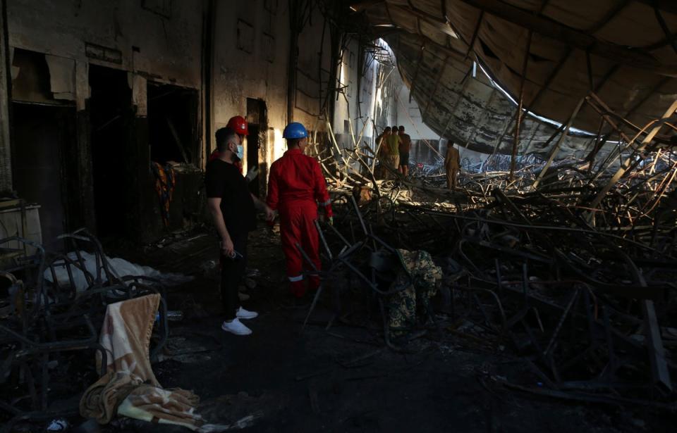
[[[149,82],[147,93],[151,160],[161,164],[197,163],[197,90]]]

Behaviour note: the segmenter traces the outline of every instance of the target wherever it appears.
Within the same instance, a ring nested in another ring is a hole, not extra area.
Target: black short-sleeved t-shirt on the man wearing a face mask
[[[228,232],[240,234],[256,228],[254,201],[247,180],[235,165],[220,159],[207,163],[205,187],[208,198],[221,198],[221,213]]]

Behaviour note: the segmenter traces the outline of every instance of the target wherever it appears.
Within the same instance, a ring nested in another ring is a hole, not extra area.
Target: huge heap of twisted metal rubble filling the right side
[[[456,191],[438,177],[377,180],[369,149],[334,149],[339,163],[323,166],[338,211],[334,227],[318,227],[331,264],[324,290],[368,291],[386,344],[401,349],[383,307],[394,293],[370,263],[381,251],[428,251],[444,270],[445,315],[420,318],[411,335],[509,348],[527,367],[487,386],[673,413],[677,158],[634,149],[620,168],[593,155],[515,175],[466,172]],[[334,303],[336,320],[348,315]]]

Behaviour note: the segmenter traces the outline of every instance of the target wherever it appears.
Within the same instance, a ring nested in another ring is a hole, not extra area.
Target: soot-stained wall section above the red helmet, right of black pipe
[[[282,131],[288,123],[291,30],[286,1],[216,2],[214,14],[214,130],[233,115],[248,115],[248,99],[267,108],[260,165],[269,167],[286,151]],[[314,10],[298,37],[294,121],[309,131],[324,131],[322,103],[329,85],[331,41],[328,24]],[[251,122],[251,118],[248,118]],[[249,137],[245,153],[249,153]],[[209,150],[215,147],[210,137]],[[248,169],[245,164],[245,170]]]

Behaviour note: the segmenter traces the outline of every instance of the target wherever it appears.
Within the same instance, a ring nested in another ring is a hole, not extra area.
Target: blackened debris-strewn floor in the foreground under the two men
[[[144,263],[196,276],[169,294],[169,308],[185,318],[173,322],[168,358],[154,370],[164,387],[200,395],[210,422],[245,419],[252,432],[667,432],[675,421],[640,408],[503,389],[501,378],[523,375],[523,365],[504,347],[462,332],[417,339],[395,353],[384,349],[377,326],[355,325],[357,319],[334,320],[326,330],[329,295],[301,332],[307,308],[288,298],[279,237],[263,228],[250,241],[256,287],[245,302],[260,318],[248,322],[250,337],[225,334],[209,263],[215,254],[205,236],[154,249]],[[106,430],[167,431],[151,427],[117,420]]]

